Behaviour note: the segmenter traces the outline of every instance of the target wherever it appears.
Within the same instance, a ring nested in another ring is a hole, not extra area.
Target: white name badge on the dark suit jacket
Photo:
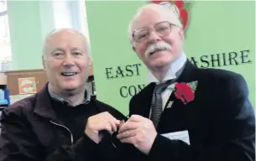
[[[189,145],[191,144],[189,132],[187,130],[180,132],[164,133],[161,135],[164,136],[165,138],[169,138],[170,140],[181,140]]]

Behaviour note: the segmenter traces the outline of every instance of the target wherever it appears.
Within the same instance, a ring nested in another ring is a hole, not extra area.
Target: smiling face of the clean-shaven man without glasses
[[[43,59],[51,90],[84,89],[88,78],[86,40],[73,30],[60,30],[46,40]]]

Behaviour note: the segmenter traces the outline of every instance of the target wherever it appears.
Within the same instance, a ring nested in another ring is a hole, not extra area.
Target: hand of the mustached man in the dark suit
[[[156,135],[151,120],[133,115],[120,127],[117,137],[122,143],[132,143],[142,153],[149,154]]]

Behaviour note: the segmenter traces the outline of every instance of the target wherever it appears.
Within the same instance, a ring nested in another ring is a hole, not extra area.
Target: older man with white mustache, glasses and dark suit
[[[192,65],[180,20],[163,6],[140,8],[128,36],[153,79],[130,101],[122,143],[142,160],[255,160],[255,117],[242,75]]]

